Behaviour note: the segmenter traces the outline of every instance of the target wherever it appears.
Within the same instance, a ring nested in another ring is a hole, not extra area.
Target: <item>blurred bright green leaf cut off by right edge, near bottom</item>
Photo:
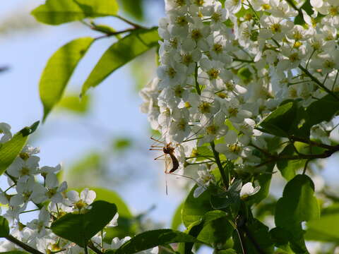
[[[339,243],[339,204],[321,211],[321,218],[307,222],[307,240]]]

